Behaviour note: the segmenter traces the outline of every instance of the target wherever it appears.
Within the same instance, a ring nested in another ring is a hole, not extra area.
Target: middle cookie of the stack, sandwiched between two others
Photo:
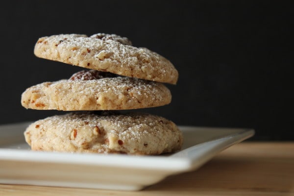
[[[69,80],[44,82],[22,94],[25,108],[39,110],[126,110],[169,104],[170,90],[162,83],[117,77],[96,70],[81,71]]]

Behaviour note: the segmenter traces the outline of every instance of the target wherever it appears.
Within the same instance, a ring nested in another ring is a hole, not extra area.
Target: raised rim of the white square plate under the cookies
[[[11,125],[25,125],[24,123],[15,123]],[[0,125],[9,126],[9,124]],[[181,131],[192,131],[193,129],[236,129],[239,132],[230,134],[225,137],[221,137],[215,140],[203,142],[192,147],[180,150],[180,152],[193,151],[196,148],[221,142],[221,146],[217,151],[220,152],[223,149],[230,147],[236,143],[254,135],[255,131],[248,128],[226,128],[226,127],[199,127],[199,126],[187,126],[179,125]],[[190,130],[189,130],[190,129]],[[1,135],[1,132],[0,132]],[[235,137],[239,136],[239,139],[235,141]],[[233,142],[226,142],[225,140],[233,139]],[[223,145],[223,143],[227,143]],[[206,151],[205,151],[206,152]],[[215,152],[217,154],[218,152]],[[207,152],[206,152],[207,153]],[[175,153],[176,154],[176,153]],[[204,153],[205,154],[205,153]],[[124,162],[127,158],[128,162]],[[122,168],[137,168],[137,169],[152,169],[152,170],[164,170],[164,171],[189,171],[195,167],[196,157],[183,157],[183,156],[164,156],[164,155],[126,155],[126,154],[94,154],[94,153],[68,153],[68,152],[48,152],[48,151],[32,151],[26,149],[12,149],[0,147],[0,161],[1,160],[14,160],[14,161],[34,161],[34,162],[47,162],[47,163],[59,163],[59,164],[80,164],[80,165],[92,165],[92,166],[112,166]],[[118,161],[120,164],[117,164]],[[147,164],[152,163],[152,164]],[[169,164],[166,164],[169,163]],[[148,166],[147,166],[148,165]]]

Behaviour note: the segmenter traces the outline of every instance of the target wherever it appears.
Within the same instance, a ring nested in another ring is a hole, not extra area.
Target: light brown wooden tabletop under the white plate
[[[0,196],[294,196],[294,142],[243,142],[139,192],[0,185]]]

